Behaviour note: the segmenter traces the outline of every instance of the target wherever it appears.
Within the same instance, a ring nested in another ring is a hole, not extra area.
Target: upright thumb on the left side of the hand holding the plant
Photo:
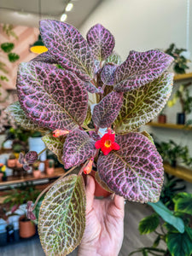
[[[87,184],[85,188],[86,213],[89,213],[92,210],[95,188],[96,188],[96,184],[95,184],[94,178],[90,175],[87,175]]]

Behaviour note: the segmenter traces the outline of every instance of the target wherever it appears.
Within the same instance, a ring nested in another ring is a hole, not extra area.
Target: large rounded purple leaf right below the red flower
[[[109,189],[130,201],[158,201],[164,172],[154,144],[137,132],[117,136],[115,142],[120,149],[97,160],[99,176]]]

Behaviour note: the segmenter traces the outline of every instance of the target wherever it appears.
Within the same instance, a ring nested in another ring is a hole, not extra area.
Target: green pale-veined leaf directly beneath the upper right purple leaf
[[[153,82],[126,92],[123,106],[113,122],[116,133],[134,131],[154,119],[171,95],[172,78],[172,73],[164,73]]]

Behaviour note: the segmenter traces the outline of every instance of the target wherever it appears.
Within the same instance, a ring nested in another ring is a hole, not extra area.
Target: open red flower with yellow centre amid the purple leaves
[[[104,134],[101,140],[97,141],[95,147],[101,148],[102,153],[107,155],[111,150],[119,150],[119,144],[114,142],[115,134],[111,133],[108,129],[108,133]]]

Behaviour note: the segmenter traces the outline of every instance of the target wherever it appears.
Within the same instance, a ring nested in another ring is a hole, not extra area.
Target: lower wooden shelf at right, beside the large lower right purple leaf
[[[173,168],[169,164],[165,163],[164,165],[165,172],[172,174],[176,177],[183,178],[183,180],[186,180],[189,183],[192,183],[192,170],[187,169],[183,166],[177,166]]]

